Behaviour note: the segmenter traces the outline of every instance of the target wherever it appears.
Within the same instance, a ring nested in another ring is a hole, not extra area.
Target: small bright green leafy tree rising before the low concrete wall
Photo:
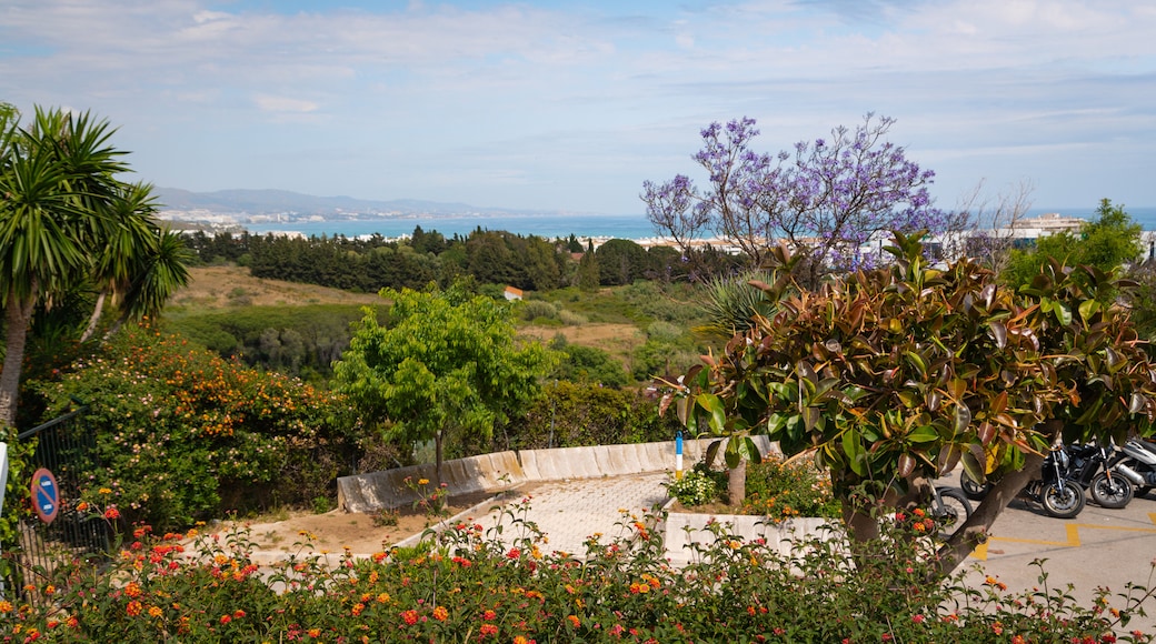
[[[362,418],[385,421],[394,440],[432,440],[442,478],[443,441],[457,433],[489,440],[494,426],[526,405],[555,358],[541,344],[514,345],[505,302],[445,292],[384,290],[391,324],[371,309],[334,365],[334,384]]]

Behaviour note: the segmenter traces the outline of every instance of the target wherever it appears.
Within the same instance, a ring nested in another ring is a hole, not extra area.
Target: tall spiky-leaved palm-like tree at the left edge
[[[114,130],[108,121],[39,107],[28,127],[18,127],[17,118],[14,110],[0,111],[0,298],[6,322],[0,424],[9,426],[16,419],[21,362],[38,305],[95,282],[97,290],[123,295],[129,317],[140,316],[158,308],[184,279],[181,256],[160,255],[163,234],[149,216],[149,188],[118,179],[129,170],[127,152],[109,142]],[[146,277],[153,269],[158,272]]]

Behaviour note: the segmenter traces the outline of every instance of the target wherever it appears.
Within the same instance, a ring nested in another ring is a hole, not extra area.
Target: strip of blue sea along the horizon
[[[1156,231],[1156,207],[1125,208],[1132,220],[1143,226],[1146,231]],[[1033,208],[1028,217],[1038,217],[1048,212],[1058,212],[1065,217],[1095,219],[1095,208]],[[447,238],[458,234],[468,237],[477,229],[488,231],[506,231],[521,235],[538,235],[546,239],[653,239],[662,237],[655,231],[645,215],[469,215],[469,216],[398,216],[375,219],[331,219],[317,222],[260,223],[245,224],[244,227],[253,234],[296,232],[305,237],[348,238],[368,237],[375,233],[385,238],[409,235],[416,226],[425,232],[437,231]]]

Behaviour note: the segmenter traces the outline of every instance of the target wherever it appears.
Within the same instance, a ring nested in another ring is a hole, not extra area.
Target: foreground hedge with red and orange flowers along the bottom
[[[849,560],[840,538],[799,544],[788,561],[727,537],[673,568],[649,529],[659,517],[624,515],[629,538],[592,536],[578,559],[546,552],[526,503],[503,509],[490,532],[465,519],[369,559],[307,554],[302,542],[271,568],[252,560],[245,531],[158,536],[139,526],[106,569],[73,563],[30,575],[20,599],[0,600],[0,641],[1153,641],[1128,630],[1132,615],[1151,608],[1139,586],[1101,591],[1081,607],[1066,589],[1050,589],[1046,574],[1023,594],[996,578],[970,587],[962,571],[927,583],[934,544],[906,521],[884,522],[888,542],[872,552],[887,555],[867,567]]]

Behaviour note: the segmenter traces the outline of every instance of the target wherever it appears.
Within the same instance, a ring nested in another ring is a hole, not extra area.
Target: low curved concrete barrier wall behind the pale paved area
[[[766,436],[753,436],[759,451],[778,455],[778,445]],[[703,459],[713,439],[683,442],[682,467]],[[674,471],[675,442],[529,449],[483,454],[446,460],[442,478],[453,495],[499,492],[527,481],[624,477],[644,472]],[[433,480],[432,464],[414,465],[338,479],[338,507],[349,512],[372,512],[413,503],[417,495],[406,478]]]

